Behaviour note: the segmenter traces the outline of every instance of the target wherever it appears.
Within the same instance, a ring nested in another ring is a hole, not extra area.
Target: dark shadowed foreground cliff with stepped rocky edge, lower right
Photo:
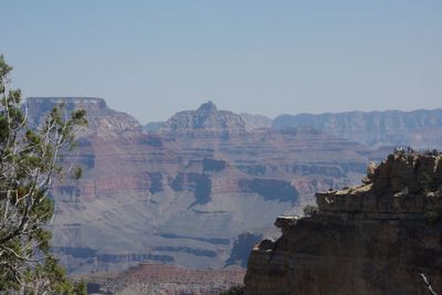
[[[442,294],[442,156],[397,152],[251,253],[246,294]]]

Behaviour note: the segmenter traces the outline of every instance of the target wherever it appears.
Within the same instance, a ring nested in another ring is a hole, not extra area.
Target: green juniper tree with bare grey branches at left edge
[[[20,89],[9,88],[11,70],[0,55],[0,293],[77,293],[50,253],[49,193],[63,171],[60,154],[74,144],[85,113],[67,116],[55,107],[42,126],[29,128]]]

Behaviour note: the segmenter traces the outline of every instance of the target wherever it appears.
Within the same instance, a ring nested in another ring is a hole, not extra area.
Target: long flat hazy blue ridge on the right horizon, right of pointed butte
[[[442,109],[281,115],[272,127],[313,127],[370,146],[442,147]]]

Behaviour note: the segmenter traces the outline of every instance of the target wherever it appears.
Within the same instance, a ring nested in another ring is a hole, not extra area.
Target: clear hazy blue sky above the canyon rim
[[[211,99],[275,116],[442,107],[442,1],[0,0],[25,96],[96,96],[141,123]]]

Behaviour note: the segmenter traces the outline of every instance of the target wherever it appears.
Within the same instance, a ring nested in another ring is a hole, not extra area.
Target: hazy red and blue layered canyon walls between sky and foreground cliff
[[[209,102],[151,128],[101,98],[31,97],[30,123],[61,102],[90,122],[64,157],[83,178],[53,190],[53,251],[74,273],[245,266],[252,245],[277,234],[275,218],[301,213],[315,192],[359,182],[392,146],[442,146],[442,109],[269,122]]]

